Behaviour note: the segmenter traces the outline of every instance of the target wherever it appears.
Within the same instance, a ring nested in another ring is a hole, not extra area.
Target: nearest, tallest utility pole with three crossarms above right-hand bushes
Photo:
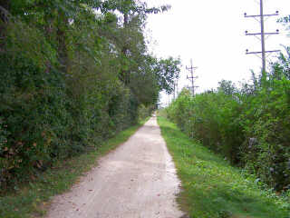
[[[263,5],[263,0],[260,0],[260,15],[247,15],[247,13],[244,14],[245,17],[252,17],[255,18],[256,21],[258,21],[261,24],[261,33],[256,33],[256,34],[249,34],[246,31],[246,35],[261,35],[261,38],[259,38],[258,36],[256,36],[259,40],[261,40],[261,45],[262,45],[262,52],[248,52],[248,49],[246,50],[246,54],[262,54],[262,73],[266,73],[266,54],[267,53],[276,53],[276,52],[280,52],[280,50],[274,50],[274,51],[266,51],[266,45],[265,45],[265,41],[266,38],[265,36],[269,36],[269,35],[278,35],[279,34],[279,30],[276,30],[275,33],[265,33],[265,17],[269,17],[269,16],[276,16],[279,15],[279,12],[276,11],[275,14],[272,15],[265,15],[264,14],[264,5]],[[257,17],[259,17],[260,19],[258,19]]]

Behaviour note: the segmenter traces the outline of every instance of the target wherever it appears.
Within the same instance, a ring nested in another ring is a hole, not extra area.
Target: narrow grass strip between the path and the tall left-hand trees
[[[117,134],[98,146],[95,151],[55,163],[52,169],[34,178],[34,182],[24,184],[14,193],[0,196],[0,217],[42,217],[54,195],[68,191],[73,183],[78,182],[83,173],[88,172],[97,164],[99,157],[126,142],[144,123],[145,121]]]

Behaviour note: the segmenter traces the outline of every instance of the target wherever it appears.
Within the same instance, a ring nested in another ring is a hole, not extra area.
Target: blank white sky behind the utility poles
[[[280,16],[290,15],[289,0],[264,0],[265,14],[279,11]],[[197,91],[216,88],[222,79],[238,81],[251,77],[250,69],[258,73],[261,69],[261,59],[250,52],[261,51],[261,43],[249,33],[260,32],[260,25],[254,18],[247,15],[259,14],[258,0],[148,0],[149,5],[171,5],[169,12],[160,15],[150,15],[148,29],[157,45],[151,44],[153,54],[158,57],[180,57],[183,67],[179,80],[179,91],[189,85],[186,79],[189,72],[185,66],[193,59],[198,66],[196,75],[199,86]],[[266,20],[266,32],[280,30],[280,35],[274,35],[266,40],[266,50],[276,50],[290,45],[290,38],[285,35],[285,27],[277,24],[274,16]],[[289,31],[290,32],[290,31]],[[271,58],[269,58],[271,59]],[[272,55],[275,60],[275,55]],[[163,104],[169,102],[169,97],[161,94]],[[172,97],[172,96],[171,96]]]

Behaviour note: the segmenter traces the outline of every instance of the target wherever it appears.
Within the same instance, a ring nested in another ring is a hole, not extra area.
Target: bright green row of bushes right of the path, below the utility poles
[[[187,134],[231,163],[256,173],[275,190],[290,189],[289,56],[281,55],[266,78],[237,88],[192,96],[183,90],[166,112]]]

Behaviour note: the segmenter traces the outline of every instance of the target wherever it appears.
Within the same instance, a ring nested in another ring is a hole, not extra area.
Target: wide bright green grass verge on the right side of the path
[[[179,204],[191,218],[290,217],[289,198],[262,190],[254,176],[230,166],[164,117],[158,122],[182,182]]]

